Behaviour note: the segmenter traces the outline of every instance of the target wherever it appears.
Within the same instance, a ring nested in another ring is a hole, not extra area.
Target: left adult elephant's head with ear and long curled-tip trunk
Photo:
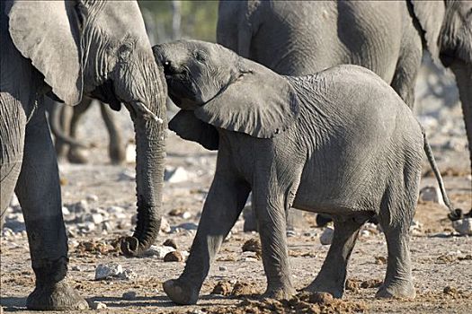
[[[136,1],[12,1],[9,31],[49,92],[69,105],[84,94],[133,119],[137,143],[138,225],[127,255],[156,239],[164,176],[165,83]]]

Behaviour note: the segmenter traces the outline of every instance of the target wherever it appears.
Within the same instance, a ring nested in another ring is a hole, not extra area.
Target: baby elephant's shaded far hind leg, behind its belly
[[[349,257],[351,257],[361,225],[369,217],[367,214],[333,215],[333,242],[320,272],[316,275],[313,283],[307,286],[307,291],[329,292],[333,294],[334,298],[343,297]]]

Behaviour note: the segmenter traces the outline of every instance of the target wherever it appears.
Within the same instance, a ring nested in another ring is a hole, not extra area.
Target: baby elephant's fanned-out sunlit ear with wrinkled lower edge
[[[288,80],[249,60],[235,82],[198,109],[195,116],[212,126],[271,138],[298,118],[298,98]]]

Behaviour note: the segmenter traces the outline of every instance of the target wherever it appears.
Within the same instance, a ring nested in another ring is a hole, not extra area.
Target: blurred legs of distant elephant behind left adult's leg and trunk
[[[54,147],[56,148],[58,160],[87,163],[87,149],[90,148],[91,144],[85,144],[77,139],[77,127],[93,100],[84,97],[74,108],[61,105],[58,101],[49,98],[45,98],[45,103],[49,111],[49,125],[55,136]],[[110,107],[102,101],[98,101],[98,105],[109,135],[108,154],[110,161],[113,164],[120,164],[125,161],[126,156],[125,144],[117,125],[116,116]]]

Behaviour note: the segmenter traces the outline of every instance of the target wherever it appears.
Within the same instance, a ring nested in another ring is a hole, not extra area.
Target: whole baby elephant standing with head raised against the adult
[[[343,296],[361,225],[377,214],[388,248],[377,296],[414,297],[408,230],[423,147],[437,169],[422,127],[387,83],[356,65],[281,76],[227,48],[194,40],[158,45],[154,53],[165,68],[169,95],[182,109],[170,129],[218,150],[190,257],[183,274],[164,283],[172,301],[198,300],[250,191],[267,276],[264,296],[296,292],[285,232],[293,206],[334,219],[333,244],[308,292]]]

